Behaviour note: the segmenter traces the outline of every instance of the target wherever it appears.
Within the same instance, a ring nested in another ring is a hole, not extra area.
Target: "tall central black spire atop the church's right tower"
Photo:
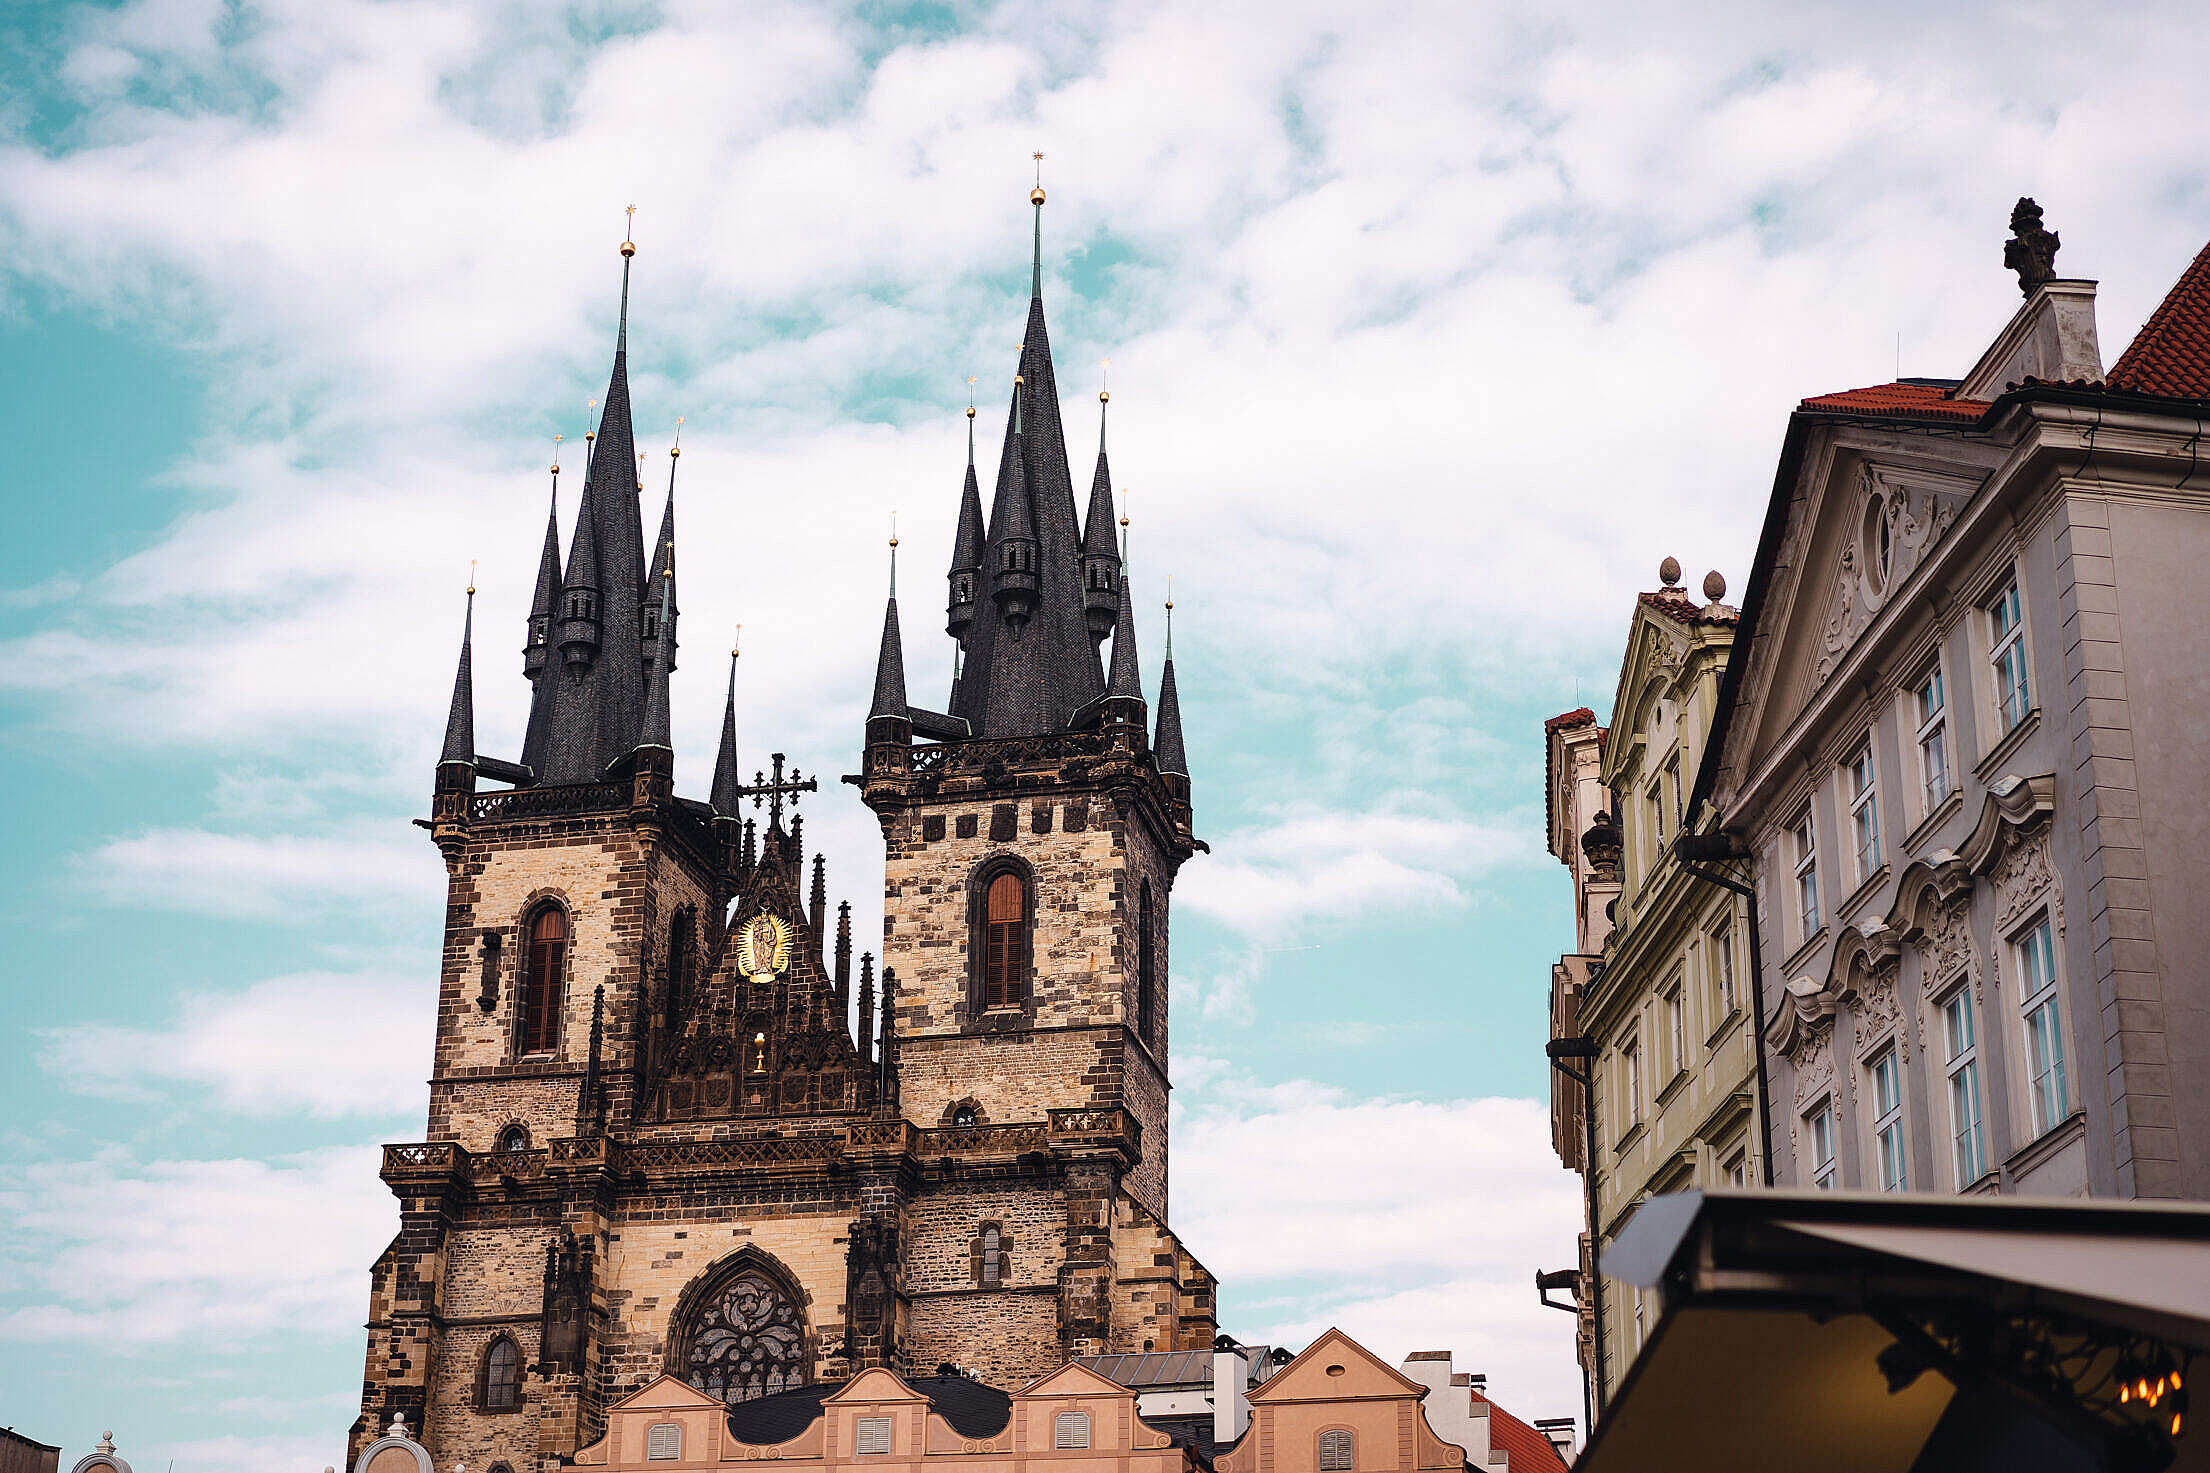
[[[977,598],[975,623],[961,640],[966,663],[950,711],[977,738],[1065,731],[1067,720],[1105,691],[1083,612],[1081,523],[1043,322],[1041,188],[1030,203],[1039,205],[1039,254],[981,559],[992,598]],[[1030,559],[1021,557],[1023,543],[1034,550]],[[1008,552],[1014,554],[1012,568]]]

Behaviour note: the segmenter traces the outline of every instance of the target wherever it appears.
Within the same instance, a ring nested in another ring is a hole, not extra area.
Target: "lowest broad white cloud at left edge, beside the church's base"
[[[256,1159],[108,1151],[0,1173],[0,1340],[115,1352],[351,1338],[398,1230],[376,1146]]]

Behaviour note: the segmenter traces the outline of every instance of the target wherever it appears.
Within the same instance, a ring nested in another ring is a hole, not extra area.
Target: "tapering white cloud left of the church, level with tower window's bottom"
[[[418,1115],[435,989],[435,976],[274,976],[188,994],[164,1027],[49,1029],[40,1067],[82,1093],[141,1100],[186,1087],[241,1115]]]

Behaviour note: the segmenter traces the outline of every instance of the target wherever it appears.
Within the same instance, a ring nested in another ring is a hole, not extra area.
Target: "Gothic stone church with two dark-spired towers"
[[[813,784],[780,757],[738,773],[734,676],[712,793],[674,793],[676,462],[648,554],[623,243],[517,762],[475,751],[462,643],[429,819],[449,875],[429,1128],[385,1148],[400,1232],[354,1453],[404,1413],[438,1466],[537,1473],[661,1371],[734,1402],[873,1365],[1014,1387],[1211,1345],[1213,1279],[1167,1228],[1167,914],[1202,848],[1174,658],[1154,709],[1103,439],[1076,512],[1032,203],[988,517],[968,433],[959,674],[944,711],[908,700],[893,592],[846,777],[886,846],[882,967],[857,978],[851,908],[831,916],[787,817]]]

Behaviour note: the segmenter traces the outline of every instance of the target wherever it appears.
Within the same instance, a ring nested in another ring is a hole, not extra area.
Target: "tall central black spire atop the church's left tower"
[[[630,428],[630,258],[621,243],[621,327],[606,384],[583,501],[568,545],[552,718],[537,782],[597,782],[641,742],[645,718],[645,539],[636,510],[636,437]]]

